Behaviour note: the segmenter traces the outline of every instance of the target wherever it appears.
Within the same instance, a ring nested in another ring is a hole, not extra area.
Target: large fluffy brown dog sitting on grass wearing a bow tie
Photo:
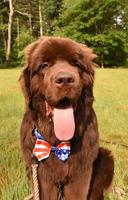
[[[64,38],[44,37],[27,48],[20,77],[26,101],[21,146],[30,179],[33,157],[39,161],[41,200],[57,200],[58,186],[65,200],[102,200],[112,182],[113,158],[99,148],[92,108],[95,57]],[[40,144],[51,149],[49,155]],[[61,145],[66,149],[58,151]]]

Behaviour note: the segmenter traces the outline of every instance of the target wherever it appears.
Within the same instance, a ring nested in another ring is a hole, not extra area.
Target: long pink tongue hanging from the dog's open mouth
[[[70,140],[75,131],[73,108],[54,108],[54,131],[60,141]]]

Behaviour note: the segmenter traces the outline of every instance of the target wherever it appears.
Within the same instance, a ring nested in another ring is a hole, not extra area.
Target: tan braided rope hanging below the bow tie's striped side
[[[34,200],[40,200],[39,198],[39,183],[38,183],[38,175],[37,175],[38,164],[32,165],[32,173],[33,173],[33,196]]]

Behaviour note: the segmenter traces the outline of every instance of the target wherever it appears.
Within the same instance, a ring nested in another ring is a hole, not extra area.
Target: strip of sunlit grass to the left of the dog
[[[23,200],[28,193],[20,154],[19,127],[23,113],[19,69],[0,70],[0,199]]]

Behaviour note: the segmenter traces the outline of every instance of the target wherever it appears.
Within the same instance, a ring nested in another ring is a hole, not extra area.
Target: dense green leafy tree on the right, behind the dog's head
[[[63,7],[55,35],[91,46],[101,66],[125,65],[128,51],[122,19],[124,5],[119,0],[79,0],[75,4],[66,1]]]

